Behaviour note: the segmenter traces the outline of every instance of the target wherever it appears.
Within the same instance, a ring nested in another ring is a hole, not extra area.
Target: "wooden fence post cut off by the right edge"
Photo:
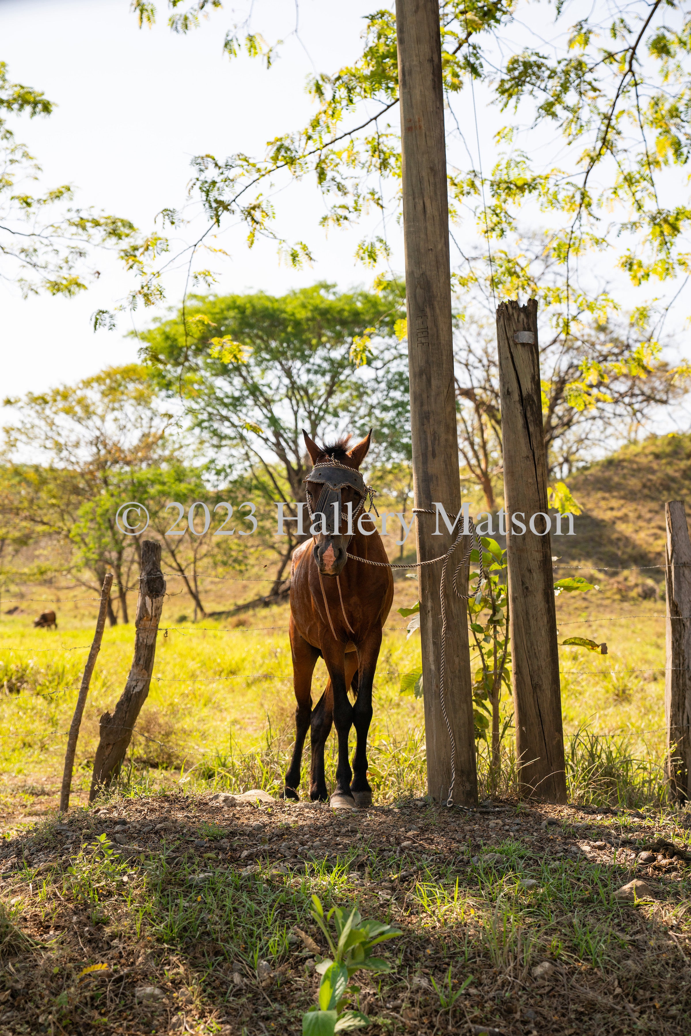
[[[665,503],[667,589],[665,718],[672,802],[691,799],[691,541],[683,500]]]

